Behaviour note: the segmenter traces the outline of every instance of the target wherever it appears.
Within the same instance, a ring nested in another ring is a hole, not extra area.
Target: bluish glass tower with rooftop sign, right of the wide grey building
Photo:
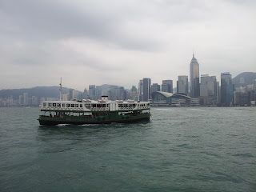
[[[234,84],[229,72],[221,74],[221,103],[230,106],[234,102]]]

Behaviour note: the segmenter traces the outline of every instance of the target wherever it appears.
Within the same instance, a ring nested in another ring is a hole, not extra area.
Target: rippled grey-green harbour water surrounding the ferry
[[[0,191],[256,191],[256,107],[85,126],[38,126],[39,114],[0,108]]]

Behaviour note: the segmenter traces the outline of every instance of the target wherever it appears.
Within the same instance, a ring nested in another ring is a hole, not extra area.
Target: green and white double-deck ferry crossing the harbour
[[[150,119],[150,102],[109,101],[107,96],[102,96],[98,101],[45,101],[41,104],[41,111],[38,121],[46,126],[138,122]]]

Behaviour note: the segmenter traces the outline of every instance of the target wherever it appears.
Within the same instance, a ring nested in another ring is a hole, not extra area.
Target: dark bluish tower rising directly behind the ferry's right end
[[[151,79],[150,78],[143,78],[139,82],[139,93],[140,93],[140,101],[141,102],[148,102],[150,100],[151,94]]]

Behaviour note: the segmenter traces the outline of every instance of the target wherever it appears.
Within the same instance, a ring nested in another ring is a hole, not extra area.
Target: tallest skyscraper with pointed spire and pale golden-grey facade
[[[198,60],[194,58],[194,54],[190,62],[190,95],[192,98],[200,96],[199,64]]]

